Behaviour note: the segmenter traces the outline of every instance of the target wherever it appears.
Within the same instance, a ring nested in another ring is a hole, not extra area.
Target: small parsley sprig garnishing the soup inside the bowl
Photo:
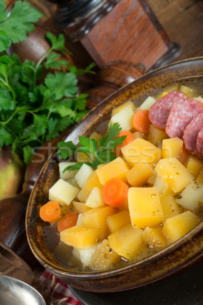
[[[99,140],[99,143],[95,139],[83,136],[78,138],[78,145],[75,145],[72,141],[58,142],[57,154],[60,159],[65,160],[70,156],[75,155],[78,151],[84,153],[89,159],[89,162],[78,162],[73,166],[67,166],[64,171],[78,170],[84,163],[95,170],[99,164],[113,161],[116,158],[113,149],[117,148],[117,145],[122,144],[126,138],[126,136],[118,136],[120,131],[121,127],[119,124],[114,123],[113,125],[110,125],[108,135],[102,137]]]

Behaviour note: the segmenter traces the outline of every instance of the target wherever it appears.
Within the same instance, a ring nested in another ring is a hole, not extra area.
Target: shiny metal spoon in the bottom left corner
[[[1,305],[46,305],[42,295],[30,285],[12,277],[0,275]]]

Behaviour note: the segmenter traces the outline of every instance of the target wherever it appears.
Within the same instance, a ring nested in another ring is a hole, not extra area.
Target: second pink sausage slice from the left
[[[183,132],[191,120],[203,112],[203,104],[194,99],[180,99],[171,108],[165,132],[170,138],[183,139]]]

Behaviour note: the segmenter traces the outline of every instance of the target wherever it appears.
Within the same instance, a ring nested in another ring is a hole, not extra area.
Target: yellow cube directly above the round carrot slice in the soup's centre
[[[100,183],[104,186],[109,179],[114,177],[121,179],[123,182],[127,182],[126,173],[129,169],[128,164],[122,158],[118,157],[103,167],[97,168],[96,171]]]

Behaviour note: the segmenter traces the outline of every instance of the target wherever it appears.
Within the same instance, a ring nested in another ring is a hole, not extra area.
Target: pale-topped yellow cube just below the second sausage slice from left
[[[162,141],[162,158],[177,158],[183,148],[183,140],[179,138],[164,139]]]

